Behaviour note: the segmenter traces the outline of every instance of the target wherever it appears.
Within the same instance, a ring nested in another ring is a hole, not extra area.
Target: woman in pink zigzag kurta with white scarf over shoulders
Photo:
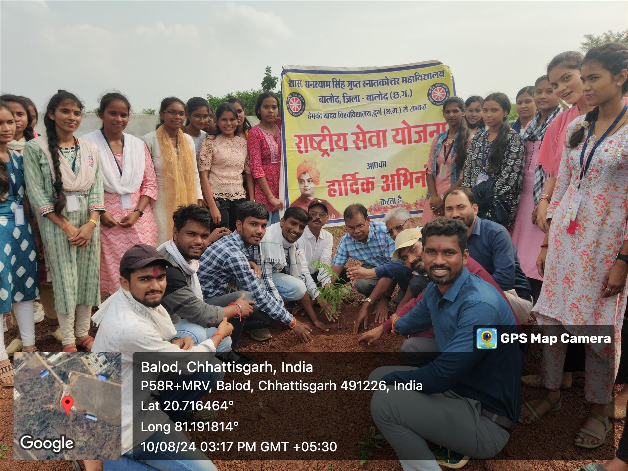
[[[146,144],[122,133],[129,111],[124,95],[104,95],[99,108],[102,130],[83,136],[98,146],[101,156],[106,212],[100,216],[100,290],[108,293],[120,287],[124,252],[135,244],[157,244],[157,225],[149,204],[157,200],[157,178]]]

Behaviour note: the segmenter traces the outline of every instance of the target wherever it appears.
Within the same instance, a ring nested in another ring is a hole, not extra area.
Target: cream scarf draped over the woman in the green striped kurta
[[[55,166],[52,163],[52,155],[50,149],[48,149],[48,138],[46,136],[39,136],[33,139],[39,144],[41,151],[48,159],[48,165],[50,166],[50,173],[53,176]],[[65,157],[59,151],[59,168],[61,170],[61,180],[63,182],[63,190],[66,192],[86,192],[94,184],[94,178],[96,176],[96,169],[98,168],[98,148],[95,144],[89,141],[78,138],[78,152],[80,153],[81,163],[78,169],[78,175],[74,174],[72,167],[65,160]],[[77,156],[78,158],[78,156]]]

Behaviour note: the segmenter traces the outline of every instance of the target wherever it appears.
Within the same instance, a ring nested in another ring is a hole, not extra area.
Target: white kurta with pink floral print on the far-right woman
[[[575,119],[568,126],[566,136],[583,120],[584,116]],[[587,146],[587,153],[591,148]],[[582,143],[574,149],[565,146],[563,150],[556,188],[548,207],[552,224],[543,290],[534,311],[581,335],[595,332],[592,328],[579,332],[575,326],[614,326],[617,367],[628,286],[617,296],[602,298],[602,283],[615,264],[622,244],[628,240],[628,124],[607,137],[595,150],[580,187],[582,202],[575,219],[575,234],[567,234],[562,222],[578,187],[581,149]],[[607,344],[590,346],[602,356],[610,350],[604,349]]]

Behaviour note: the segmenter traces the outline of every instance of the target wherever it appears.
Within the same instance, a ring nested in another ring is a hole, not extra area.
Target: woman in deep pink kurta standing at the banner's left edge
[[[260,122],[249,131],[247,138],[251,174],[255,180],[255,200],[268,208],[268,225],[279,222],[279,211],[283,209],[279,194],[281,121],[277,117],[278,111],[279,100],[273,92],[259,95],[255,114]]]

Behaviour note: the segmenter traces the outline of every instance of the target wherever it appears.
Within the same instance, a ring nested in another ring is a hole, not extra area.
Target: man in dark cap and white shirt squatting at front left
[[[203,361],[212,364],[220,364],[214,358],[216,349],[223,338],[228,338],[233,327],[223,318],[212,337],[203,340],[198,345],[193,345],[190,337],[176,337],[168,312],[160,306],[161,298],[166,290],[166,268],[170,267],[170,261],[149,245],[136,245],[126,251],[120,261],[120,288],[109,296],[104,303],[98,306],[97,312],[92,316],[95,325],[99,326],[94,340],[92,352],[120,352],[122,355],[122,458],[132,460],[132,449],[139,447],[143,441],[160,440],[159,433],[140,430],[141,423],[170,424],[171,431],[175,431],[173,420],[183,417],[192,421],[207,421],[211,417],[208,411],[170,411],[168,414],[161,411],[155,404],[170,399],[176,399],[181,404],[192,404],[200,400],[207,391],[197,388],[195,391],[180,390],[179,387],[171,391],[160,391],[153,397],[150,389],[141,391],[141,398],[134,398],[144,404],[144,407],[133,410],[133,354],[137,352],[149,352],[161,354],[162,359],[166,355],[179,354],[176,360],[183,361],[186,355],[192,352],[207,354]],[[155,355],[155,358],[160,358]],[[191,358],[190,358],[191,359]],[[199,357],[195,357],[198,360]],[[185,373],[184,373],[185,374]],[[156,380],[158,373],[144,373],[142,379]],[[214,372],[194,373],[187,376],[175,376],[173,381],[200,380],[212,387],[215,381],[222,379],[224,374]],[[134,394],[138,394],[135,391]],[[151,406],[152,404],[152,406]],[[136,412],[134,416],[133,413]],[[135,441],[134,441],[135,439]],[[168,440],[183,441],[189,443],[183,433],[174,432],[168,435]],[[192,455],[190,459],[207,458],[200,451],[198,455]],[[174,464],[174,463],[173,463]],[[170,469],[160,468],[160,469]],[[197,469],[197,468],[195,468]],[[214,469],[207,467],[207,469]]]

